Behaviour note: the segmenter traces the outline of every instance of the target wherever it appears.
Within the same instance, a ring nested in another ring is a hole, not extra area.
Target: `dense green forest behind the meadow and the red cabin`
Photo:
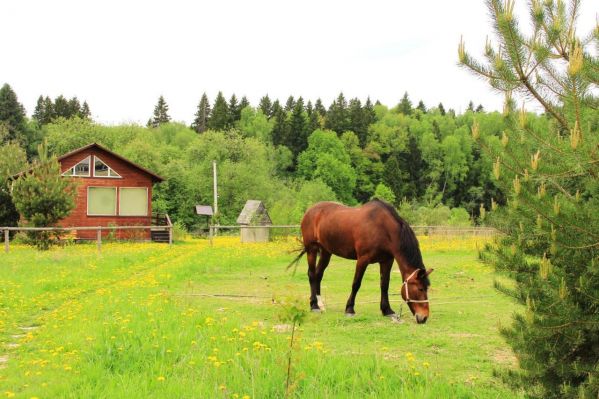
[[[187,229],[201,223],[194,206],[212,204],[213,160],[221,224],[234,223],[247,199],[264,201],[281,224],[298,223],[317,201],[356,205],[378,197],[412,223],[470,225],[481,222],[482,208],[505,201],[491,177],[494,160],[481,153],[471,133],[476,125],[499,148],[503,116],[480,105],[475,109],[472,102],[457,115],[442,104],[415,106],[407,93],[393,107],[339,94],[328,108],[320,99],[290,96],[281,103],[267,95],[252,106],[245,97],[226,100],[218,93],[214,102],[201,97],[191,126],[171,121],[163,97],[147,126],[106,126],[90,115],[87,102],[81,105],[76,97],[40,96],[28,118],[5,84],[3,178],[34,159],[42,141],[55,155],[97,142],[163,176],[166,181],[154,190],[154,210]],[[530,118],[548,123],[544,116]],[[4,224],[7,213],[0,211]]]

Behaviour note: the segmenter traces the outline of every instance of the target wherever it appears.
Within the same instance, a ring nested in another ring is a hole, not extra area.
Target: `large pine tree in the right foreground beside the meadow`
[[[599,27],[577,37],[579,1],[533,0],[526,36],[513,1],[487,0],[498,46],[486,62],[459,45],[460,63],[505,93],[507,128],[493,146],[472,135],[493,159],[508,205],[491,212],[504,234],[484,259],[515,280],[498,288],[523,305],[502,334],[519,360],[507,380],[538,398],[599,395]],[[531,123],[512,93],[534,99],[545,123]],[[488,206],[488,204],[487,204]],[[492,208],[495,205],[492,204]]]

